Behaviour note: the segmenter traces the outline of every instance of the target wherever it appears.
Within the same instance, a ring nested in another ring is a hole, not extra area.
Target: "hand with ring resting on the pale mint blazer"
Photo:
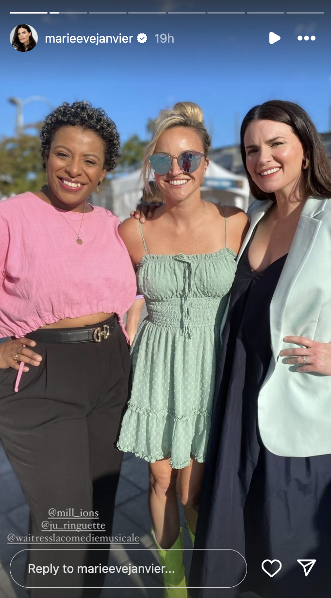
[[[306,337],[289,336],[284,337],[285,343],[302,344],[295,349],[284,349],[280,352],[281,357],[289,357],[286,364],[299,365],[297,372],[315,372],[331,376],[331,343],[317,343]]]

